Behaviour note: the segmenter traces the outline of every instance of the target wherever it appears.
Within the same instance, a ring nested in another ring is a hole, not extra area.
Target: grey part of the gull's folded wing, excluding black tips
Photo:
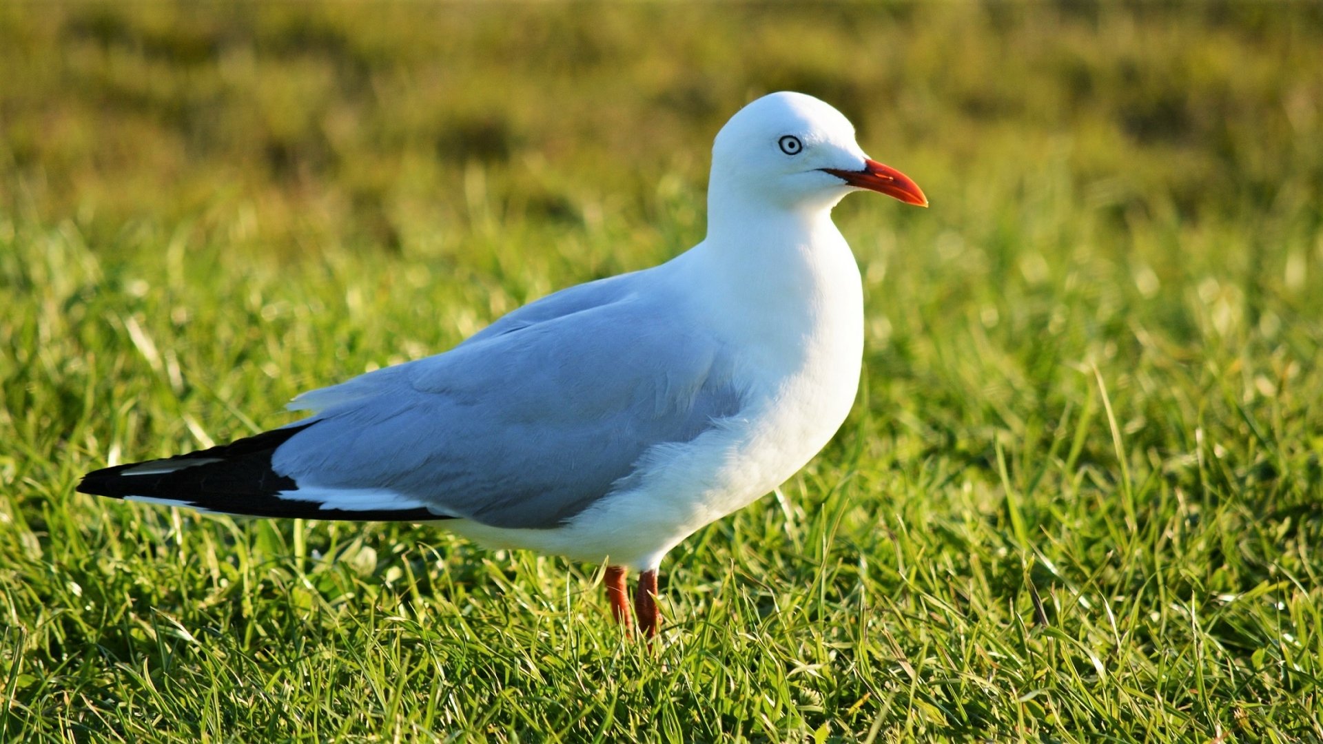
[[[650,447],[738,412],[722,347],[667,310],[627,294],[300,397],[320,412],[273,469],[319,494],[388,492],[495,527],[560,524]]]

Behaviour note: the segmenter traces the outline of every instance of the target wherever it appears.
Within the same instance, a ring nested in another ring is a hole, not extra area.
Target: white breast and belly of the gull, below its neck
[[[824,216],[826,217],[826,216]],[[767,240],[700,244],[665,265],[693,319],[730,352],[738,414],[697,438],[659,445],[614,492],[553,530],[501,530],[467,520],[456,532],[496,547],[531,548],[635,569],[703,526],[767,494],[836,433],[859,388],[863,289],[849,246],[831,224]]]

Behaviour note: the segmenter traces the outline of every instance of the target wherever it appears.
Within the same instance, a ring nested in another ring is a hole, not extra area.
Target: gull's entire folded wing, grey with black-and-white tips
[[[576,287],[587,291],[558,306],[552,295],[450,352],[306,393],[291,408],[314,416],[284,429],[101,470],[79,488],[262,516],[554,527],[650,447],[740,409],[724,348],[660,298],[628,293],[626,278]]]

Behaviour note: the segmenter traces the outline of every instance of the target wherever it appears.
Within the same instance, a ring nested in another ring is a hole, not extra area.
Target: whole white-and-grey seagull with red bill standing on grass
[[[438,523],[496,549],[605,564],[617,624],[658,634],[658,569],[787,481],[859,388],[859,265],[831,221],[853,191],[927,207],[830,105],[773,93],[717,134],[708,233],[573,286],[447,352],[306,392],[304,418],[106,467],[77,490],[205,512]]]

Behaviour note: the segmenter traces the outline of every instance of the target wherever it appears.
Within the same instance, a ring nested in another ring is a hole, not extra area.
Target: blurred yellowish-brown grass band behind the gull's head
[[[656,218],[751,97],[832,102],[934,191],[1061,167],[1091,210],[1316,199],[1315,4],[7,4],[12,210],[422,248],[492,207]],[[1040,168],[1027,168],[1039,164]],[[957,207],[947,204],[946,213]],[[1139,214],[1132,214],[1138,212]],[[237,214],[247,214],[238,220]]]

